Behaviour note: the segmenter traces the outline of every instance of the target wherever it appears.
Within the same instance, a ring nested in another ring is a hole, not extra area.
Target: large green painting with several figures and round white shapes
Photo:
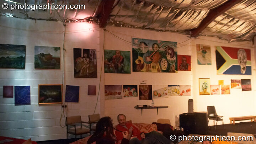
[[[177,42],[132,38],[134,72],[177,73]]]

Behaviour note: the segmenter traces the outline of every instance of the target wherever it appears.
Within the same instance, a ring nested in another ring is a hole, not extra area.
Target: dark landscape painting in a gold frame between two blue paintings
[[[38,104],[62,103],[62,85],[38,85]]]

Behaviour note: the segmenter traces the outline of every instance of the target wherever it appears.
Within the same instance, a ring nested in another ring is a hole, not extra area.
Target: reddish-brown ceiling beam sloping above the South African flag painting
[[[208,15],[204,17],[202,22],[199,24],[197,28],[192,29],[191,32],[191,37],[197,37],[200,32],[202,32],[212,21],[215,20],[219,15],[223,14],[225,11],[230,9],[232,6],[238,4],[242,0],[228,0],[224,2],[222,5],[210,9]]]

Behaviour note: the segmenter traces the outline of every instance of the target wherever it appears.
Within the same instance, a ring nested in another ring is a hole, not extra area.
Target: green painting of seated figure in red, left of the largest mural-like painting
[[[104,50],[105,73],[130,74],[130,52],[123,50]]]

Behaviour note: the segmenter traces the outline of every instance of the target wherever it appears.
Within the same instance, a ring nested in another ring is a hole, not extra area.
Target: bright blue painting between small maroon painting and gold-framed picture
[[[30,105],[30,86],[14,86],[15,105]]]

